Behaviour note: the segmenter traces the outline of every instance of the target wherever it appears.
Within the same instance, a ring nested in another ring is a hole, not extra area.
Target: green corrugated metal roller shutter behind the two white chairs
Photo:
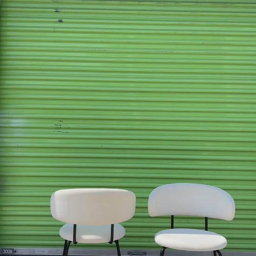
[[[255,10],[255,0],[2,0],[1,246],[61,248],[50,195],[111,187],[137,196],[121,248],[159,249],[169,219],[148,216],[150,191],[199,182],[236,202],[234,221],[209,229],[227,250],[255,251]]]

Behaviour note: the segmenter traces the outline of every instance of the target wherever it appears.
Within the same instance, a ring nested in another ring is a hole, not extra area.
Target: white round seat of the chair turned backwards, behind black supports
[[[73,241],[73,224],[65,224],[60,229],[60,236],[68,241]],[[108,243],[110,241],[111,225],[85,226],[77,225],[76,242],[78,243]],[[114,241],[125,235],[124,227],[117,223],[114,225]]]

